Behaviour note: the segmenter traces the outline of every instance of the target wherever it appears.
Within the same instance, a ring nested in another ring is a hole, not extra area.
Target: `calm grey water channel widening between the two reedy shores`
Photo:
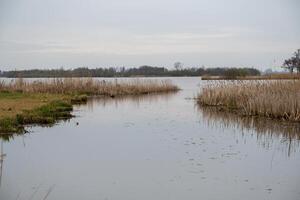
[[[0,199],[300,199],[299,127],[199,108],[205,82],[172,81],[183,90],[91,99],[2,141]]]

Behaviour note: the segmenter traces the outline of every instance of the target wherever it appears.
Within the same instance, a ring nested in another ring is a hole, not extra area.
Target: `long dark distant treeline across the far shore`
[[[164,67],[141,66],[139,68],[96,68],[76,69],[32,69],[0,71],[1,77],[41,78],[41,77],[136,77],[136,76],[257,76],[254,68],[183,68],[168,70]]]

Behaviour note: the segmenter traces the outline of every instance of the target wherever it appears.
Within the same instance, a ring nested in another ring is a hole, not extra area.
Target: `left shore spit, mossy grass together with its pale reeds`
[[[22,133],[24,125],[52,125],[72,117],[72,105],[85,103],[88,96],[117,97],[175,92],[169,81],[99,81],[92,78],[64,78],[45,81],[16,79],[0,82],[0,134]]]

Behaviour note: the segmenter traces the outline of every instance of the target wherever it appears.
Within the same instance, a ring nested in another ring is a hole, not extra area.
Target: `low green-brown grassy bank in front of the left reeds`
[[[72,104],[85,96],[0,92],[0,134],[22,133],[25,125],[52,125],[72,117]]]

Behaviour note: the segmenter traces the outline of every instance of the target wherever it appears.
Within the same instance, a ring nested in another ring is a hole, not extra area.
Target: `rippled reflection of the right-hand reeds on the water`
[[[280,140],[281,149],[290,156],[292,152],[299,151],[300,124],[282,122],[264,117],[246,117],[238,114],[220,111],[216,107],[198,106],[203,119],[211,127],[222,129],[239,129],[242,132],[250,131],[256,134],[259,144],[270,148],[272,142]]]

